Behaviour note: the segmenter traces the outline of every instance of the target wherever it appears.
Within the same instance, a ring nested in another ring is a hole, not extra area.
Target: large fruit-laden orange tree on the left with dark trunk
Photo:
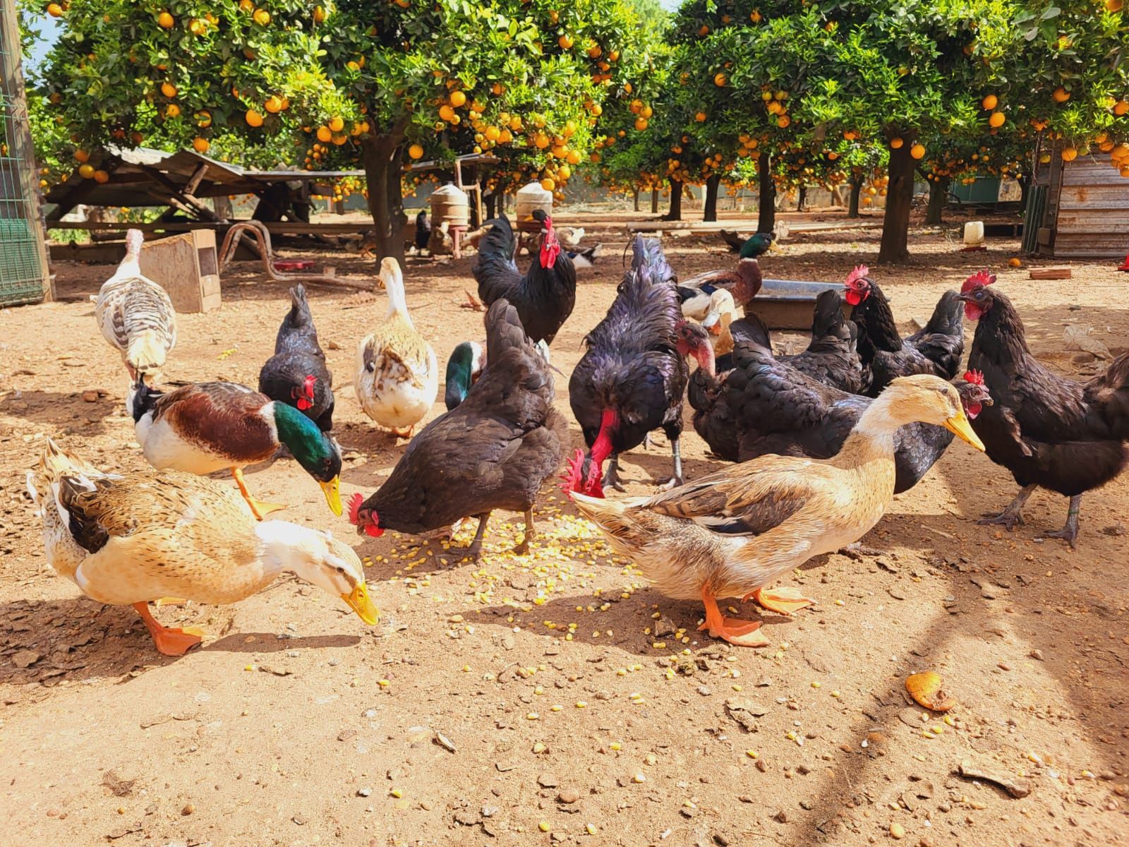
[[[623,0],[70,0],[51,11],[62,33],[40,93],[91,166],[147,133],[201,151],[228,133],[252,149],[297,139],[291,161],[365,169],[379,256],[403,254],[404,161],[513,146],[560,175],[587,155],[595,107],[641,67]]]

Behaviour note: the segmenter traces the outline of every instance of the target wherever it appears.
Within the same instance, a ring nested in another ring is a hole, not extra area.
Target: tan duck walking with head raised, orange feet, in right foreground
[[[699,629],[730,644],[764,646],[760,621],[724,617],[717,599],[753,597],[782,614],[809,605],[795,590],[765,586],[878,522],[894,495],[894,434],[914,421],[946,427],[983,449],[956,388],[916,375],[891,383],[831,459],[765,455],[649,498],[570,496],[659,591],[704,603]]]

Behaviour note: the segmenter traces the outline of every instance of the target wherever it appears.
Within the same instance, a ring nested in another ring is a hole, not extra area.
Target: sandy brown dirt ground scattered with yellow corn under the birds
[[[765,276],[838,281],[873,259],[876,239],[797,233],[765,257]],[[622,230],[589,226],[594,241],[605,256],[580,272],[553,344],[564,374],[621,276]],[[665,246],[683,274],[732,261],[716,238]],[[1057,370],[1101,367],[1064,349],[1070,324],[1126,348],[1129,277],[1113,262],[1033,281],[1006,267],[1015,242],[959,246],[948,232],[916,232],[911,267],[875,270],[903,324],[987,264]],[[350,255],[291,255],[371,277]],[[481,315],[457,306],[471,262],[409,263],[412,315],[440,360],[482,335]],[[287,578],[234,606],[157,610],[209,632],[174,660],[131,609],[81,596],[45,564],[24,482],[44,437],[106,470],[143,466],[124,369],[87,300],[108,269],[58,271],[60,302],[0,311],[6,847],[1129,842],[1129,478],[1085,498],[1071,552],[1034,540],[1066,517],[1066,500],[1045,492],[1014,533],[978,526],[1016,486],[956,443],[865,539],[881,558],[831,556],[786,580],[816,605],[767,618],[773,646],[754,650],[699,637],[700,604],[649,588],[554,488],[530,556],[507,552],[520,517],[497,515],[472,566],[460,552],[469,533],[450,549],[358,538],[278,461],[248,474],[252,490],[351,540],[379,625]],[[312,302],[336,377],[342,497],[367,496],[403,451],[351,387],[355,346],[384,296],[317,288]],[[181,316],[166,376],[255,384],[287,304],[282,286],[237,265],[220,311]],[[563,377],[558,404],[571,420]],[[686,418],[694,478],[717,464]],[[631,494],[669,469],[660,435],[624,460]],[[959,700],[948,719],[904,699],[921,670]],[[957,775],[962,763],[998,783]]]

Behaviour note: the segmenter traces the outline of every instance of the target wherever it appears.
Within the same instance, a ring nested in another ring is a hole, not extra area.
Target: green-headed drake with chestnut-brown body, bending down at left
[[[341,449],[292,405],[238,383],[195,383],[165,394],[139,381],[126,407],[146,460],[158,470],[212,473],[228,469],[255,517],[285,506],[247,491],[243,469],[265,462],[285,445],[317,480],[334,515],[341,514]]]

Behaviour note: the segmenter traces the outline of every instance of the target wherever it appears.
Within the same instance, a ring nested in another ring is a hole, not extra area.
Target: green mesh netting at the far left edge
[[[10,6],[0,5],[0,15]],[[16,62],[10,53],[12,45],[3,43],[5,28],[0,26],[0,307],[43,299],[44,274],[36,217],[38,198],[26,197],[25,180],[35,173],[35,163],[15,155],[16,132],[26,132],[17,121],[26,114],[15,108],[14,80]]]

